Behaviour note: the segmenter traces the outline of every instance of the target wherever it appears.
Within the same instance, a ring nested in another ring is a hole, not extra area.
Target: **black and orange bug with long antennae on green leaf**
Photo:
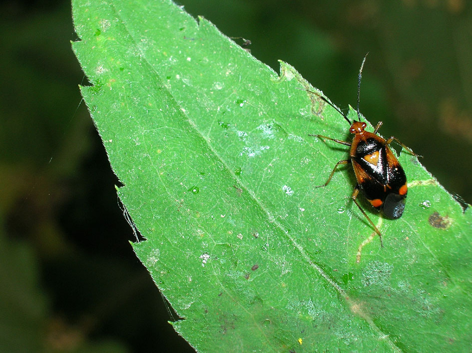
[[[383,247],[382,233],[376,227],[374,222],[369,218],[366,212],[363,210],[361,205],[357,201],[359,191],[362,191],[367,200],[376,209],[383,211],[385,217],[390,219],[398,219],[402,216],[405,210],[405,199],[407,198],[407,177],[405,172],[397,160],[397,157],[392,153],[389,145],[392,141],[396,141],[409,153],[414,156],[418,154],[414,153],[411,149],[400,142],[396,137],[391,136],[387,140],[377,135],[382,121],[379,121],[374,129],[374,132],[368,132],[365,130],[367,124],[361,121],[361,114],[359,112],[359,101],[361,95],[361,77],[362,69],[366,61],[366,56],[361,64],[358,78],[358,91],[357,91],[357,116],[359,120],[351,122],[349,118],[335,105],[329,102],[323,96],[318,95],[321,99],[335,108],[351,126],[349,132],[354,134],[352,142],[346,142],[338,139],[334,139],[323,135],[310,135],[316,136],[321,139],[328,139],[337,143],[350,146],[351,151],[349,159],[340,160],[333,168],[328,180],[323,185],[317,187],[325,187],[333,178],[336,168],[340,164],[351,163],[356,174],[357,184],[354,187],[354,191],[351,195],[357,207],[361,210],[362,214],[367,218],[375,232],[379,235],[380,244]]]

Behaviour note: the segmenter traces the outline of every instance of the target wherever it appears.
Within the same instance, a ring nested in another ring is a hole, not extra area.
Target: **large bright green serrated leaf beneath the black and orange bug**
[[[74,0],[73,16],[82,94],[146,238],[133,248],[195,349],[471,348],[471,209],[416,157],[399,158],[401,219],[362,202],[381,248],[351,168],[314,188],[347,151],[308,134],[349,126],[293,67],[170,1]]]

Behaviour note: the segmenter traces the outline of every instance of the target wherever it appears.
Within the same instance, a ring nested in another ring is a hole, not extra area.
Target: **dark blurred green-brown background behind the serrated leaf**
[[[369,51],[363,114],[472,201],[470,1],[179,3],[342,108]],[[76,39],[67,1],[0,3],[0,351],[191,351],[128,243],[119,181],[81,103]]]

